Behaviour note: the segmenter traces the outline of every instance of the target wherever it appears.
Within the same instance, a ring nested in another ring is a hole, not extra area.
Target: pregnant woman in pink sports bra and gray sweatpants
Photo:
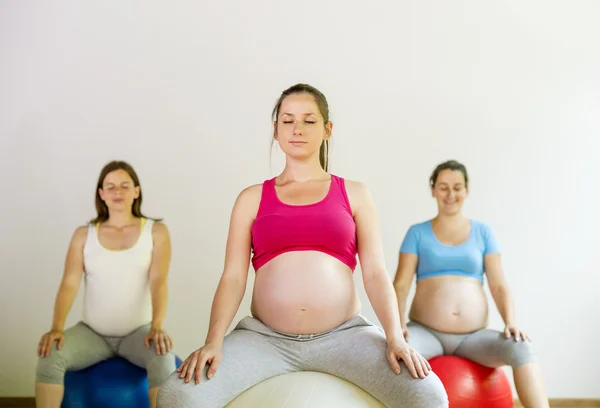
[[[447,407],[439,378],[402,335],[368,190],[327,171],[325,97],[292,86],[273,119],[285,169],[239,194],[205,344],[164,383],[158,407],[221,408],[259,382],[303,370],[343,378],[388,407]],[[383,330],[360,315],[357,255]],[[250,262],[252,316],[226,335]]]

